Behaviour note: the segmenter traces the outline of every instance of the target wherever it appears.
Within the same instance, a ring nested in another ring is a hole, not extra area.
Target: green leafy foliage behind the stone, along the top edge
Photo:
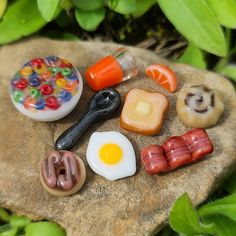
[[[232,37],[236,28],[235,0],[1,0],[0,44],[37,33],[50,22],[61,28],[61,31],[49,30],[47,35],[51,37],[77,39],[83,30],[99,31],[100,25],[109,29],[112,24],[114,29],[110,32],[114,39],[123,41],[124,32],[132,32],[130,22],[138,22],[149,9],[158,9],[158,6],[189,42],[179,62],[201,69],[211,68],[236,80],[236,64],[231,62],[236,54]],[[161,22],[160,14],[155,17]],[[123,21],[124,29],[116,32],[116,24]],[[147,37],[150,35],[145,33]],[[212,65],[205,60],[209,57],[206,52],[223,58]]]

